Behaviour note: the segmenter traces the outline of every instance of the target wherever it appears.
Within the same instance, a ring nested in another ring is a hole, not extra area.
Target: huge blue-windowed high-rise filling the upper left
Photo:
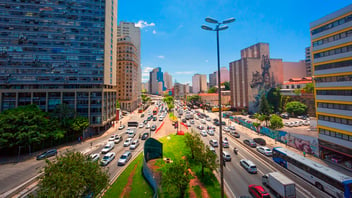
[[[109,128],[116,115],[117,0],[0,3],[0,111],[66,103]]]

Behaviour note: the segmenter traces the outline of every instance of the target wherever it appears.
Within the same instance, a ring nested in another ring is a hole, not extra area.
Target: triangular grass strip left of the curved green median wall
[[[131,162],[126,170],[117,178],[115,183],[113,183],[112,186],[106,191],[104,197],[115,198],[121,196],[121,193],[128,182],[128,177],[136,164],[138,165],[133,176],[131,191],[129,194],[125,194],[125,197],[153,197],[153,190],[142,175],[143,153],[138,155],[138,157]]]

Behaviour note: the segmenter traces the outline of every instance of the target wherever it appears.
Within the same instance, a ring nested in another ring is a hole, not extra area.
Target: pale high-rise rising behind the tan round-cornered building
[[[130,40],[134,47],[136,48],[136,56],[137,56],[137,64],[138,64],[138,69],[137,71],[137,81],[136,84],[136,89],[138,90],[138,103],[141,103],[141,91],[142,91],[142,68],[141,68],[141,29],[139,27],[136,27],[134,23],[132,22],[124,22],[121,21],[119,25],[117,26],[117,37],[125,37],[128,36],[130,37]]]

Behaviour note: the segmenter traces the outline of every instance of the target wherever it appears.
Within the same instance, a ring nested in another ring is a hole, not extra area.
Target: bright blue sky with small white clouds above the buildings
[[[190,83],[195,73],[217,70],[216,33],[200,28],[204,18],[234,17],[220,33],[221,66],[240,58],[240,50],[258,42],[270,45],[270,57],[304,59],[310,45],[309,23],[349,5],[349,0],[120,0],[118,20],[141,27],[142,81],[161,67],[173,81]],[[207,24],[210,25],[211,24]],[[191,84],[191,83],[190,83]]]

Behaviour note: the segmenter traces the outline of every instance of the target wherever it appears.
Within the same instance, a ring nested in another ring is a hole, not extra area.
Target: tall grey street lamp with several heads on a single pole
[[[223,172],[223,166],[224,166],[224,159],[222,156],[222,115],[221,115],[221,80],[220,80],[220,51],[219,51],[219,31],[226,30],[229,28],[227,25],[223,24],[228,24],[234,22],[236,19],[235,18],[229,18],[224,20],[223,22],[218,22],[216,19],[212,19],[210,17],[205,18],[205,21],[208,23],[214,23],[216,24],[215,28],[211,28],[206,25],[202,25],[203,30],[210,30],[210,31],[216,31],[216,42],[217,42],[217,55],[218,55],[218,94],[219,94],[219,144],[220,144],[220,186],[221,186],[221,197],[224,197],[224,172]],[[222,25],[222,26],[221,26]]]

